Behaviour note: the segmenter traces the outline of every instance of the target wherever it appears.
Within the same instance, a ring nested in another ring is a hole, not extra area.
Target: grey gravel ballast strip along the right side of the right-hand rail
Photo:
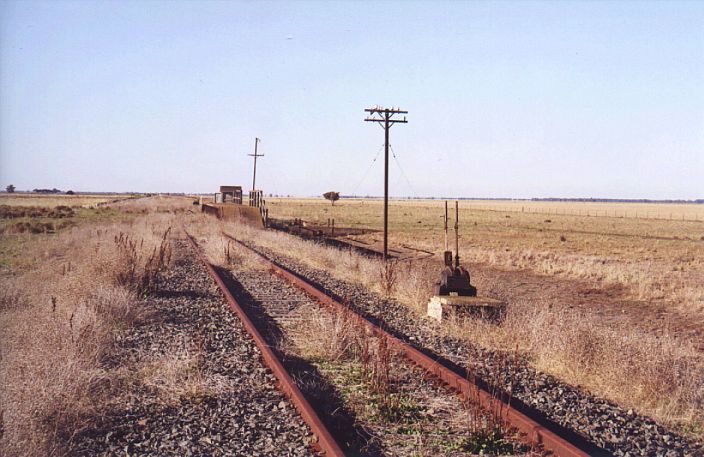
[[[482,379],[496,379],[503,371],[507,388],[513,380],[513,396],[541,411],[554,422],[578,432],[603,450],[617,456],[702,456],[701,443],[692,443],[652,419],[620,408],[604,399],[566,385],[519,362],[510,370],[497,368],[505,357],[477,348],[466,341],[441,336],[438,324],[421,319],[405,306],[386,300],[359,284],[334,278],[325,271],[303,265],[290,257],[247,242],[270,259],[286,267],[331,296],[344,297],[353,308],[414,346],[430,350],[460,367],[472,366]],[[596,452],[595,452],[596,453]]]

